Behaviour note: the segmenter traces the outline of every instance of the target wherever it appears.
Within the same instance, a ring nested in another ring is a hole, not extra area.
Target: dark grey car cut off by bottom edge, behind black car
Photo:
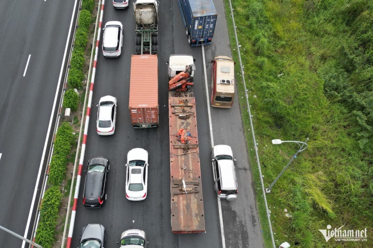
[[[88,224],[80,234],[79,248],[103,248],[106,238],[105,227],[101,224]]]

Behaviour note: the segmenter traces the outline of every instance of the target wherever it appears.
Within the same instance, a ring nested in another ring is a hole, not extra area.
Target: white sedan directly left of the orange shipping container
[[[98,103],[97,133],[99,135],[111,135],[115,131],[116,98],[105,96]]]

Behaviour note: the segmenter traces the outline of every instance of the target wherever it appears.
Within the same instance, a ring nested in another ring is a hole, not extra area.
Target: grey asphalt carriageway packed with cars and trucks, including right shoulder
[[[218,28],[215,31],[213,44],[205,46],[208,82],[211,78],[210,61],[213,57],[231,55],[222,3],[215,1],[215,6],[219,14]],[[130,5],[128,10],[115,10],[111,2],[105,5],[102,26],[107,21],[120,21],[123,24],[123,51],[119,58],[114,59],[103,57],[101,49],[98,55],[84,170],[87,161],[92,157],[105,156],[110,160],[107,202],[101,209],[83,207],[85,178],[83,174],[72,247],[79,245],[81,229],[88,223],[100,223],[106,228],[105,246],[107,247],[116,247],[121,232],[131,228],[143,229],[146,232],[149,247],[222,247],[218,200],[213,190],[212,144],[207,109],[209,102],[206,100],[202,47],[191,48],[188,45],[176,1],[160,2],[159,11],[160,125],[154,129],[139,130],[132,127],[128,110],[131,54],[135,51],[133,7]],[[171,232],[166,65],[170,54],[192,54],[196,59],[194,92],[206,221],[204,233],[173,234]],[[115,134],[108,137],[97,135],[95,127],[96,105],[99,99],[106,95],[114,96],[118,101]],[[263,247],[237,97],[233,108],[211,109],[211,113],[214,144],[231,145],[238,161],[238,199],[234,202],[221,201],[226,247]],[[148,196],[141,202],[128,201],[125,196],[127,152],[135,147],[144,148],[149,152]]]

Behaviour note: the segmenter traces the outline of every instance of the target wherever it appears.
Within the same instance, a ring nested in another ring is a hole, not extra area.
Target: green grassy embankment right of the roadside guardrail
[[[232,26],[225,0],[228,25]],[[373,2],[232,0],[276,246],[373,247]],[[238,62],[234,33],[229,29]],[[239,99],[266,247],[271,247],[240,70]],[[285,212],[287,209],[288,212]],[[291,217],[286,217],[288,213]],[[319,229],[368,228],[328,242]]]

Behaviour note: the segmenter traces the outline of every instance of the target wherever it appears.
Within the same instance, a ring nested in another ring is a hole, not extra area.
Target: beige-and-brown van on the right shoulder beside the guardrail
[[[230,108],[234,99],[234,64],[232,58],[217,56],[212,63],[211,106]]]

